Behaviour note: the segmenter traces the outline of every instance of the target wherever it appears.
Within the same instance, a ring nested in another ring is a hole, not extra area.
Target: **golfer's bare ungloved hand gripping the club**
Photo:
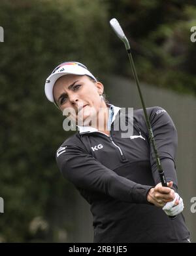
[[[162,186],[161,183],[157,184],[155,188],[151,188],[147,195],[147,200],[157,207],[163,208],[166,203],[173,202],[175,199],[175,192],[172,190],[173,182],[167,182],[167,186]],[[176,198],[174,205],[178,205],[179,200]]]

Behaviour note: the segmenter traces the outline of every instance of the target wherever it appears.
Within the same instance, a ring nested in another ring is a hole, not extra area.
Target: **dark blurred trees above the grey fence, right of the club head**
[[[196,26],[195,1],[114,0],[109,12],[122,24],[131,43],[141,81],[196,95],[196,47],[191,27]],[[113,41],[113,39],[112,39]],[[120,43],[115,43],[120,74],[131,75]]]

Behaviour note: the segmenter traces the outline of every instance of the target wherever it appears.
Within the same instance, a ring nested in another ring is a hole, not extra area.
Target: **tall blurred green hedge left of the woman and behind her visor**
[[[71,228],[66,214],[73,213],[63,204],[70,206],[74,200],[55,154],[70,133],[63,131],[59,110],[46,100],[44,83],[66,60],[80,61],[94,74],[101,72],[103,63],[105,70],[110,68],[105,4],[6,0],[0,3],[0,17],[5,30],[5,43],[0,45],[0,196],[5,200],[0,238],[59,241],[52,226],[54,212],[64,215],[59,228]],[[42,225],[41,219],[50,224]],[[32,222],[47,228],[38,236]]]

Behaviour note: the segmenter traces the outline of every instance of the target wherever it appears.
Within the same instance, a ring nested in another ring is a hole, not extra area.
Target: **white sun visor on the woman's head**
[[[45,94],[48,100],[51,102],[54,102],[54,96],[53,96],[53,88],[54,84],[56,83],[57,79],[63,75],[67,74],[74,74],[74,75],[88,75],[95,79],[93,74],[84,66],[83,64],[79,62],[64,62],[57,66],[57,68],[54,69],[52,74],[48,76],[45,83]]]

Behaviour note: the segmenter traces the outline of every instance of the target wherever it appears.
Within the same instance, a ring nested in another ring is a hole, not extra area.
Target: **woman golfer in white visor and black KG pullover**
[[[56,161],[91,205],[94,242],[189,242],[177,193],[171,117],[162,108],[147,109],[168,182],[163,187],[143,111],[134,110],[131,118],[108,104],[103,91],[79,62],[60,64],[45,83],[48,100],[69,113],[78,130],[58,148]]]

